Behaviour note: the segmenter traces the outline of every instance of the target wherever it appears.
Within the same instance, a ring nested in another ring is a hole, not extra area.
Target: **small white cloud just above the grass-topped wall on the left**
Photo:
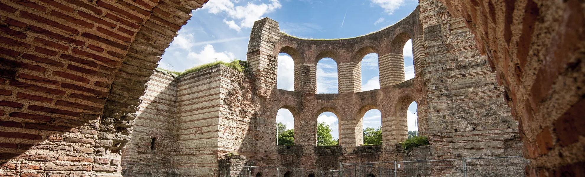
[[[190,63],[192,65],[196,66],[213,61],[229,62],[235,58],[235,55],[228,51],[216,52],[214,46],[211,44],[207,44],[202,48],[203,50],[199,51],[199,53],[190,52],[187,54],[187,58],[191,60]]]

